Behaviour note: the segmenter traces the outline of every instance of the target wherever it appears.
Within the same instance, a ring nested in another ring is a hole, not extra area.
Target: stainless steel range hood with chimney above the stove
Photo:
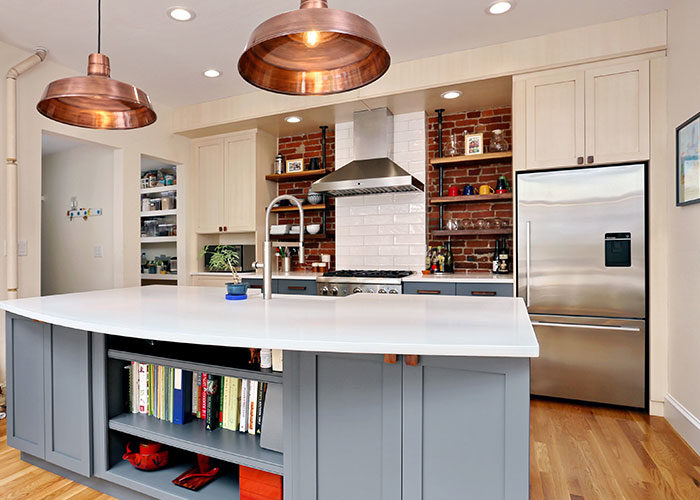
[[[394,145],[394,116],[387,108],[358,111],[353,116],[355,160],[311,185],[330,196],[423,191],[423,183],[389,157]]]

